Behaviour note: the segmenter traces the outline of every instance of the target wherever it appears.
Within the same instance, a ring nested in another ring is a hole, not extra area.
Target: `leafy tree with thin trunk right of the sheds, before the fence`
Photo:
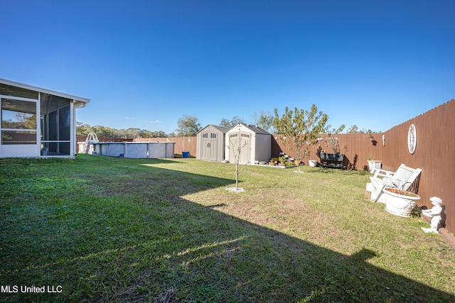
[[[295,153],[295,160],[299,162],[297,170],[300,172],[301,161],[309,155],[311,147],[318,141],[319,134],[326,130],[327,114],[318,111],[315,104],[311,110],[304,109],[284,110],[280,117],[278,109],[274,109],[274,127],[282,138],[283,144]]]

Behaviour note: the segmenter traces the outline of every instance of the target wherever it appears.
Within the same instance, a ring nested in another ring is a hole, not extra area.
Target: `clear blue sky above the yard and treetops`
[[[455,98],[455,0],[2,0],[0,77],[170,133],[311,104],[387,131]]]

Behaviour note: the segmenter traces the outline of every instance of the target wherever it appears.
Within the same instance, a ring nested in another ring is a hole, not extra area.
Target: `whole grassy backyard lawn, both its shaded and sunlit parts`
[[[233,193],[218,162],[0,160],[0,301],[455,302],[455,251],[369,202],[368,174],[293,170]]]

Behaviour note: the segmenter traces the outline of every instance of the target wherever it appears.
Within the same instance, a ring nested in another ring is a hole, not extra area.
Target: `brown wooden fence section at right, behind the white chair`
[[[416,148],[410,153],[408,132],[414,125],[417,133]],[[396,170],[401,163],[421,168],[419,206],[432,208],[429,198],[442,199],[441,224],[455,233],[455,99],[427,111],[384,133],[382,165]]]

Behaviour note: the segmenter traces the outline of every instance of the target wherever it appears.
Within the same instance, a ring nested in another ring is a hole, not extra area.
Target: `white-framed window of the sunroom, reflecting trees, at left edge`
[[[36,102],[1,99],[1,144],[36,144]]]

